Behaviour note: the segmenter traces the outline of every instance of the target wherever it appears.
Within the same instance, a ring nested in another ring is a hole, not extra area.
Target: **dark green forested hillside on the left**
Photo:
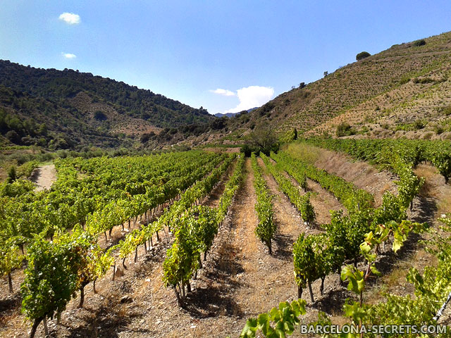
[[[91,73],[0,61],[0,131],[9,132],[4,143],[130,146],[144,133],[214,119],[203,108]]]

